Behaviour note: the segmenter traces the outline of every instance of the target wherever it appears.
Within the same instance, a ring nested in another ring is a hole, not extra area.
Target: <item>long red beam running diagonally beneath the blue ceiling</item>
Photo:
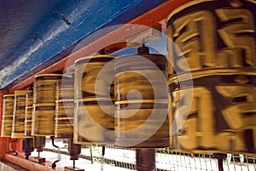
[[[128,24],[137,24],[143,26],[153,26],[155,23],[158,23],[162,20],[165,20],[167,15],[172,12],[173,9],[176,9],[183,3],[188,3],[191,0],[172,0],[168,1],[159,7],[148,11],[147,13],[137,17],[134,20],[128,22]],[[10,92],[14,92],[16,89],[25,88],[31,85],[34,82],[34,76],[42,73],[52,73],[55,71],[61,71],[67,65],[73,64],[74,60],[79,59],[82,56],[90,55],[95,53],[101,48],[105,48],[109,45],[109,42],[116,42],[120,39],[124,39],[124,37],[129,37],[130,35],[134,34],[133,31],[125,30],[127,27],[120,27],[119,29],[112,31],[105,37],[101,37],[97,39],[95,42],[90,43],[89,45],[81,48],[79,51],[68,55],[67,57],[63,58],[62,60],[57,61],[55,64],[44,68],[42,71],[34,74],[31,77],[26,78],[25,80],[17,83],[13,88],[10,88]],[[67,64],[68,60],[68,64]]]

